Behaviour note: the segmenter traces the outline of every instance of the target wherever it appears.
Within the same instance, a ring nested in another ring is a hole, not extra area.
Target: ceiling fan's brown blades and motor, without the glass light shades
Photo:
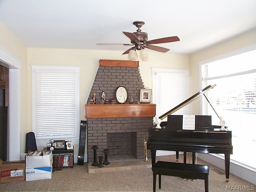
[[[165,52],[168,52],[170,49],[155,46],[153,44],[169,43],[169,42],[175,42],[180,40],[177,36],[148,40],[148,34],[146,32],[142,32],[140,29],[145,24],[145,22],[135,21],[133,22],[133,24],[138,28],[136,32],[133,32],[133,33],[123,32],[131,40],[131,43],[122,44],[122,45],[128,45],[133,47],[126,50],[123,54],[128,54],[130,50],[143,50],[144,48],[165,53]],[[106,45],[107,43],[97,43],[97,44]],[[112,45],[116,45],[116,44],[112,44]]]

